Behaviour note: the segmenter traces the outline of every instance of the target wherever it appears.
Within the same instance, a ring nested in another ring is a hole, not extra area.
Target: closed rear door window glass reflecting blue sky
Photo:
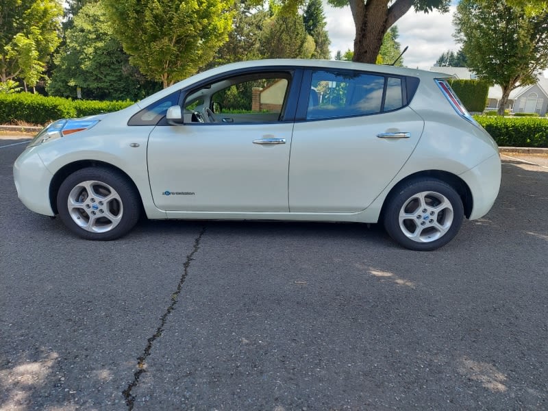
[[[403,105],[403,82],[399,77],[314,71],[306,119],[375,114]]]

